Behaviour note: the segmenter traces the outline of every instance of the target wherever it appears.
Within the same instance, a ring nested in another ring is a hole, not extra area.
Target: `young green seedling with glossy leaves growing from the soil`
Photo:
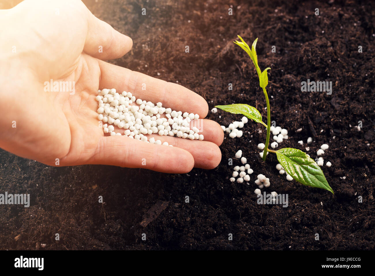
[[[268,144],[270,141],[271,110],[266,86],[268,85],[267,70],[271,68],[267,67],[262,72],[258,66],[258,57],[257,52],[255,51],[258,38],[255,39],[250,49],[249,45],[245,41],[243,41],[240,36],[238,37],[240,38],[241,42],[236,40],[234,41],[234,43],[239,45],[243,50],[245,50],[246,53],[248,53],[252,62],[254,63],[255,69],[257,69],[259,86],[263,89],[263,93],[266,97],[267,102],[267,124],[262,121],[260,112],[255,107],[249,106],[248,104],[229,104],[226,106],[216,107],[226,112],[245,115],[249,119],[252,119],[253,121],[263,124],[265,127],[267,127],[267,137],[263,152],[264,161],[266,161],[267,158],[267,151],[276,153],[276,157],[278,158],[279,163],[282,167],[284,167],[284,170],[293,177],[293,179],[302,183],[303,185],[325,189],[333,193],[333,190],[329,186],[323,171],[320,169],[320,166],[318,166],[318,164],[305,152],[294,148],[282,148],[277,151],[268,148]]]

